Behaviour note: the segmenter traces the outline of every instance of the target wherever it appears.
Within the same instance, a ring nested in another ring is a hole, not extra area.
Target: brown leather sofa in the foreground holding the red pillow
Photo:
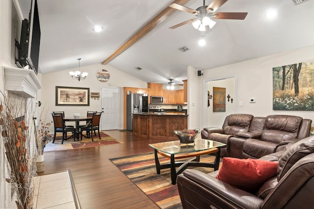
[[[183,209],[310,209],[314,206],[314,136],[264,156],[279,161],[277,176],[247,192],[209,174],[186,169],[177,177]]]

